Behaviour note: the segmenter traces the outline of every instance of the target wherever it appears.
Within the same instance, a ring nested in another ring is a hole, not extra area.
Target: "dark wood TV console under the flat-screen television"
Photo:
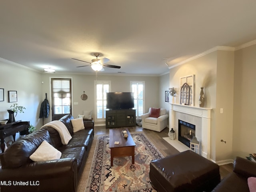
[[[106,128],[136,126],[135,109],[106,110]]]

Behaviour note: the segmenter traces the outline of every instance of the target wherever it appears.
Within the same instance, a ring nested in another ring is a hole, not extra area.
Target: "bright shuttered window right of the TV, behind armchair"
[[[131,81],[131,92],[134,93],[134,109],[136,109],[136,117],[139,118],[144,114],[144,81]]]

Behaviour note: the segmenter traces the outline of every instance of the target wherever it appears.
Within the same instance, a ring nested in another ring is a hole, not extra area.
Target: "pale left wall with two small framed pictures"
[[[8,90],[17,91],[17,103],[26,110],[24,113],[18,113],[16,120],[30,121],[30,124],[39,128],[42,102],[41,74],[2,58],[0,69],[0,88],[4,88],[4,101],[0,102],[0,120],[9,118],[7,109],[14,104],[8,102]]]

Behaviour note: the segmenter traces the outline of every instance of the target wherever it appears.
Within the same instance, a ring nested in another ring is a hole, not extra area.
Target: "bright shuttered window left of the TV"
[[[106,93],[110,92],[110,81],[94,81],[96,95],[96,120],[104,120],[106,118]]]

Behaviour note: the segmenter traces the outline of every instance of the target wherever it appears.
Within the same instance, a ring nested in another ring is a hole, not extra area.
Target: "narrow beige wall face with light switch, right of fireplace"
[[[234,52],[217,51],[216,76],[216,157],[215,161],[232,159],[233,134],[233,92],[234,92]],[[223,108],[223,113],[220,113]],[[221,142],[220,140],[226,141]]]

